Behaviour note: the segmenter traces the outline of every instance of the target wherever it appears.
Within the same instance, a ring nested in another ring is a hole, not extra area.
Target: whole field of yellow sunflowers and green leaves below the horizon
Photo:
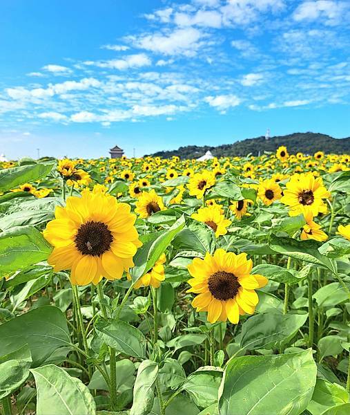
[[[1,163],[3,415],[349,415],[349,160]]]

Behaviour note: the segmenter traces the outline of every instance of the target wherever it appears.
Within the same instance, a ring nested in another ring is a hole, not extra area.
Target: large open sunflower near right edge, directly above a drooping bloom
[[[327,205],[322,199],[330,196],[322,178],[315,178],[312,173],[294,174],[286,183],[281,202],[288,205],[295,214],[303,213],[304,208],[307,208],[313,216],[317,216],[319,212],[327,212]]]

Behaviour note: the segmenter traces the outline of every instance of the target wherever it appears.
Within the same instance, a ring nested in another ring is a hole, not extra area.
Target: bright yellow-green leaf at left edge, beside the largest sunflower
[[[19,226],[0,233],[0,276],[44,261],[51,247],[32,226]]]

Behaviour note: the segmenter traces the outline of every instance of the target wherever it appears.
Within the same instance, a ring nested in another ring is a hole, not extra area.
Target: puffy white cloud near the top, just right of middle
[[[141,37],[130,37],[135,46],[164,55],[195,55],[204,35],[195,28],[175,29],[170,33],[154,33]]]

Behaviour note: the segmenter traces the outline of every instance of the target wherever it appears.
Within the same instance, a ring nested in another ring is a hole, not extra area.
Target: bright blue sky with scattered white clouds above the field
[[[0,153],[350,136],[349,0],[1,0]]]

